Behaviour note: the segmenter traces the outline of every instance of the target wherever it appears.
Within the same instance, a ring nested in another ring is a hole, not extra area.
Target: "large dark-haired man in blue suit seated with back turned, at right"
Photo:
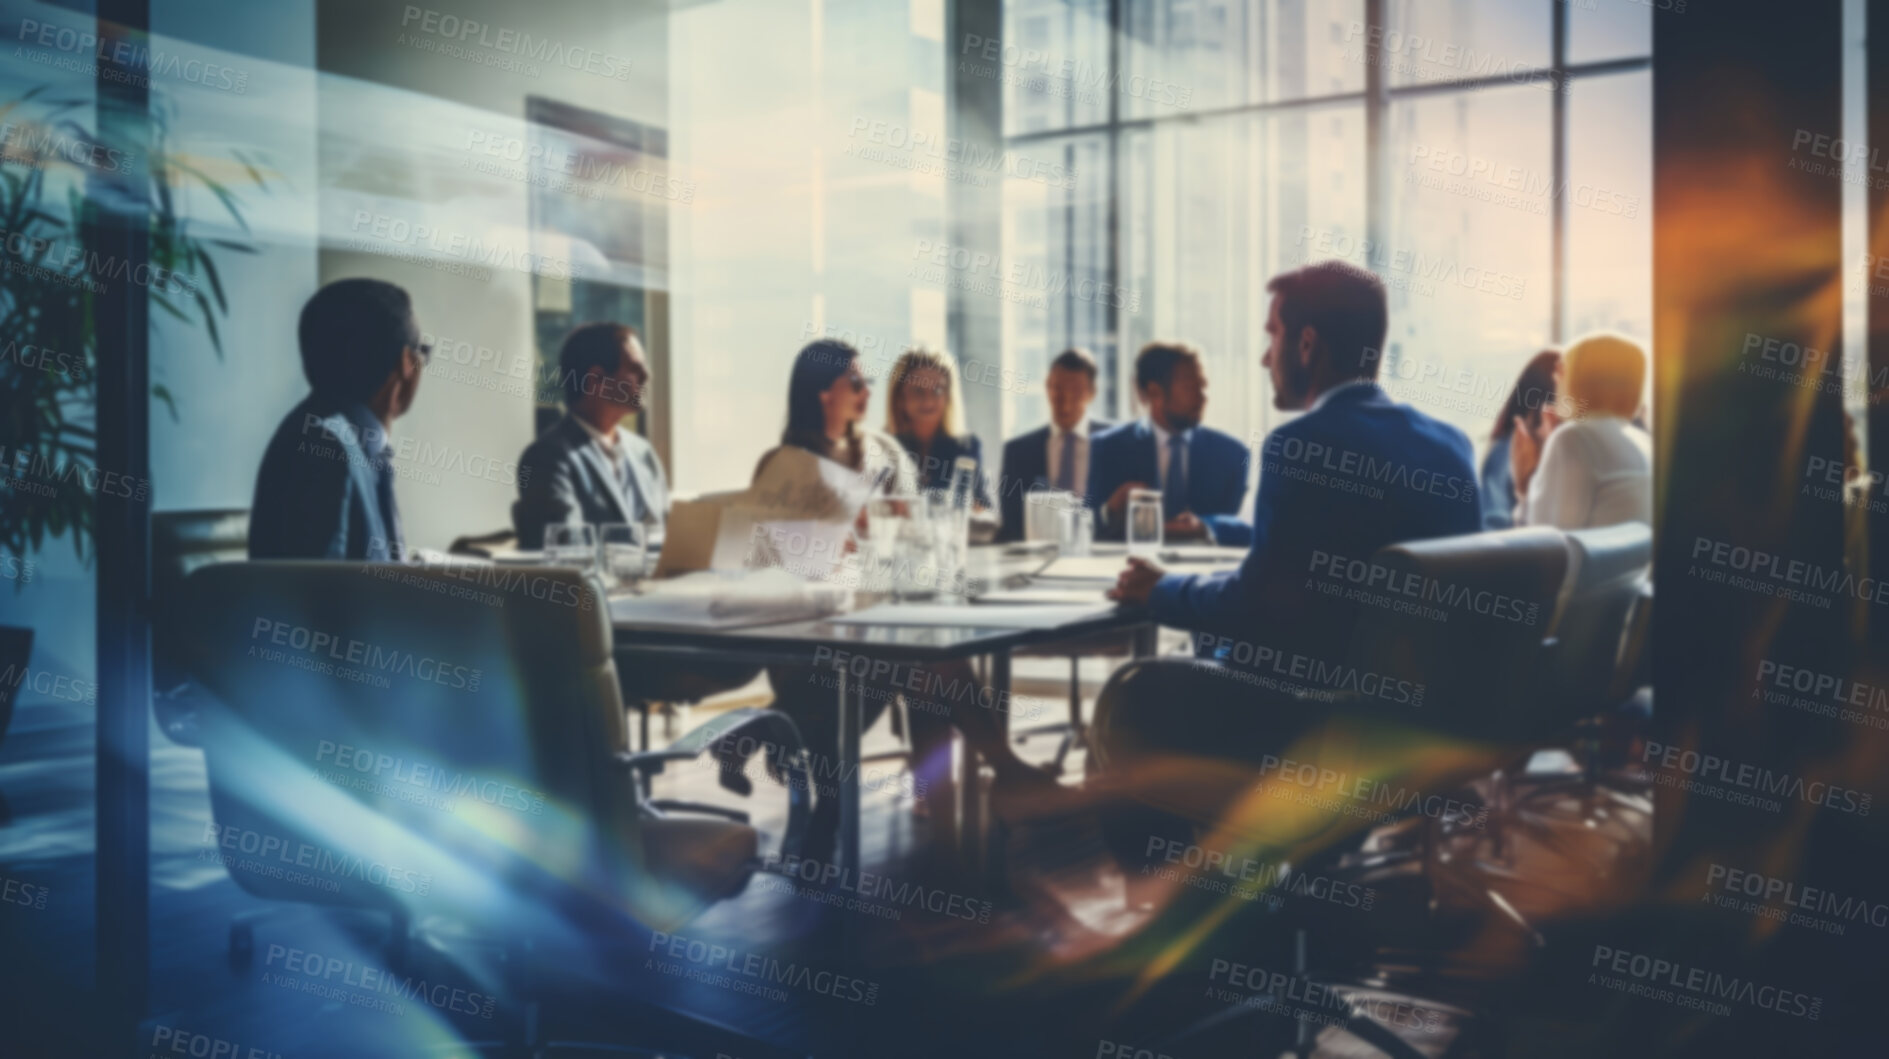
[[[1385,285],[1341,261],[1275,276],[1264,366],[1273,406],[1303,415],[1275,429],[1260,453],[1252,546],[1237,570],[1167,574],[1132,559],[1113,598],[1149,606],[1162,625],[1205,632],[1201,653],[1234,659],[1156,659],[1116,672],[1101,693],[1101,757],[1118,774],[1175,765],[1196,778],[1213,763],[1247,776],[1313,723],[1303,710],[1268,708],[1252,683],[1230,680],[1239,659],[1283,659],[1300,676],[1343,670],[1354,604],[1315,585],[1315,553],[1370,559],[1396,542],[1475,532],[1481,512],[1475,459],[1462,430],[1377,387],[1377,351],[1387,330]],[[1226,651],[1230,644],[1243,649]],[[1268,674],[1273,676],[1273,674]],[[1226,787],[1196,783],[1215,800]],[[1194,797],[1194,795],[1186,795]],[[1139,863],[1149,834],[1188,827],[1162,808],[1137,806],[1103,819],[1124,865]],[[1224,804],[1200,806],[1213,814]]]

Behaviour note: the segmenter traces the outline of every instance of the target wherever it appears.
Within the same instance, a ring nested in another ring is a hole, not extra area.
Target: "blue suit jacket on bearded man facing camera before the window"
[[[1194,427],[1186,447],[1186,510],[1207,523],[1217,542],[1234,547],[1252,540],[1252,527],[1239,517],[1247,500],[1249,459],[1239,438]],[[1124,423],[1090,442],[1088,502],[1098,508],[1096,536],[1120,540],[1122,527],[1103,525],[1099,508],[1124,481],[1160,487],[1162,464],[1154,451],[1154,427],[1147,419]]]

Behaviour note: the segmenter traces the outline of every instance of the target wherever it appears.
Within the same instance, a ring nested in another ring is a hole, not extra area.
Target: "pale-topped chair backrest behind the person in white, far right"
[[[1543,691],[1564,721],[1606,710],[1628,615],[1653,563],[1645,523],[1570,530],[1564,604],[1555,623]]]

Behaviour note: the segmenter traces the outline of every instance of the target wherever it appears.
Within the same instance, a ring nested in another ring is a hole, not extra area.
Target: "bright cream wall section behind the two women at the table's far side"
[[[674,13],[671,151],[697,187],[671,211],[680,491],[748,483],[810,336],[852,342],[878,376],[912,342],[946,344],[948,287],[914,276],[916,249],[946,238],[943,11],[720,0]]]

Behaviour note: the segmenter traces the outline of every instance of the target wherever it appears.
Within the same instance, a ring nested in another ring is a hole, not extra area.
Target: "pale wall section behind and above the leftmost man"
[[[533,357],[533,268],[593,262],[533,244],[529,183],[482,147],[527,140],[527,96],[663,125],[667,6],[329,0],[317,23],[319,279],[399,283],[436,345],[491,351],[434,357],[395,427],[406,538],[444,549],[510,525],[533,438],[531,379],[514,378]],[[557,62],[572,55],[587,68]]]

